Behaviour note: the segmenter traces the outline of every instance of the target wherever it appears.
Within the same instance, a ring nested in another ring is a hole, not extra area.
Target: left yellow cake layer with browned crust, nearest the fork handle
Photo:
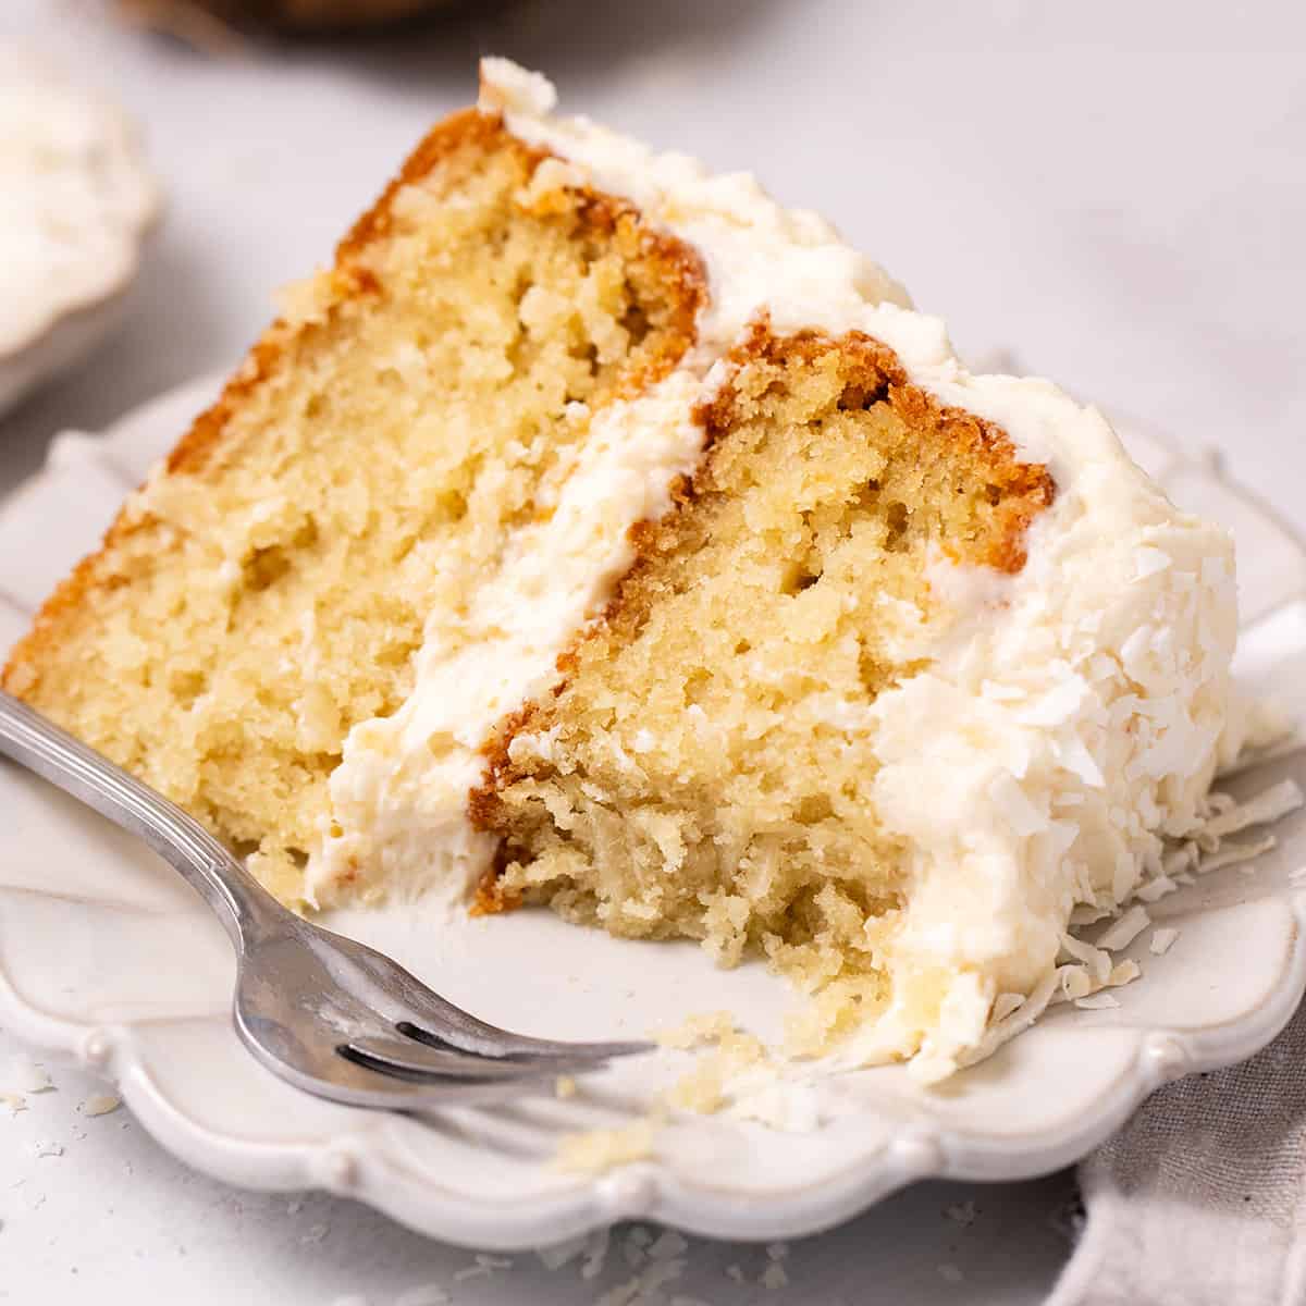
[[[492,118],[439,128],[9,665],[289,901],[428,616],[457,622],[592,415],[692,338],[692,257],[541,158]]]

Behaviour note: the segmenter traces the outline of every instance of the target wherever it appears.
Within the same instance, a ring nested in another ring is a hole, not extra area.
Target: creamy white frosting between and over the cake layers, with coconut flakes
[[[662,511],[670,475],[692,466],[688,411],[724,377],[721,357],[763,313],[776,330],[865,332],[917,385],[1002,426],[1058,487],[1019,575],[935,564],[959,618],[929,670],[872,708],[878,814],[912,852],[884,948],[892,1004],[852,1055],[917,1053],[925,1077],[946,1074],[982,1043],[995,1008],[1016,1019],[1008,995],[1047,1000],[1077,904],[1127,900],[1160,874],[1162,835],[1205,816],[1235,635],[1230,539],[1178,513],[1096,410],[1046,381],[966,372],[942,323],[820,218],[786,213],[748,176],[551,118],[552,103],[538,74],[483,61],[482,108],[697,251],[709,290],[697,345],[652,394],[602,415],[568,483],[575,513],[522,541],[520,568],[483,596],[466,643],[423,648],[402,712],[350,737],[333,795],[353,833],[336,842],[380,846],[385,878],[427,883],[457,866],[465,884],[483,867],[490,848],[464,816],[475,748],[547,687],[554,657],[628,564],[627,528]],[[812,707],[833,718],[848,705]],[[432,733],[451,741],[435,760]],[[1225,738],[1225,754],[1234,746]],[[317,861],[319,883],[332,867],[330,853]]]

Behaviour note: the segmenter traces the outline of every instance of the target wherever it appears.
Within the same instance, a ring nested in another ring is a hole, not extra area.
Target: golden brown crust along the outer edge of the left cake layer
[[[383,239],[389,231],[396,195],[402,187],[430,174],[445,157],[469,146],[485,151],[517,150],[533,163],[549,157],[547,150],[524,145],[513,137],[505,129],[502,116],[496,114],[468,108],[439,123],[409,155],[380,199],[337,246],[336,263],[329,273],[328,311],[351,299],[364,299],[380,293],[376,278],[367,268],[359,265],[359,257],[370,244]],[[611,232],[620,223],[631,226],[639,223],[637,212],[627,202],[589,189],[580,193],[582,218],[593,230]],[[639,376],[628,379],[627,389],[636,392],[665,375],[692,345],[697,312],[707,296],[707,277],[692,249],[671,236],[646,230],[640,232],[640,240],[661,261],[669,282],[678,287],[680,307],[677,330],[667,347],[658,358],[650,359],[649,366]],[[268,328],[226,383],[218,400],[196,417],[189,431],[168,454],[166,465],[170,473],[195,473],[205,466],[221,447],[232,414],[259,385],[274,375],[291,353],[296,338],[307,329],[310,329],[307,324],[290,325],[279,317]],[[142,529],[146,521],[148,518],[133,515],[124,505],[106,532],[101,549],[84,558],[59,584],[42,605],[31,629],[10,650],[8,662],[0,670],[0,687],[18,697],[33,696],[48,650],[67,628],[76,624],[88,592],[97,586],[123,584],[121,577],[112,575],[104,563],[114,547],[132,532]]]

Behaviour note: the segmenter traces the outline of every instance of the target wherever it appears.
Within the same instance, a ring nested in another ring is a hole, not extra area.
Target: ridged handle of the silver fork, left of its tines
[[[285,910],[176,803],[3,690],[0,754],[144,838],[213,908],[232,943]]]

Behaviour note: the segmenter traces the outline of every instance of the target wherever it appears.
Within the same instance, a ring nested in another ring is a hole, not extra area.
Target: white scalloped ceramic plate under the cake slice
[[[167,394],[102,439],[60,438],[44,471],[0,505],[0,646],[214,389],[204,381]],[[1290,708],[1306,704],[1306,552],[1213,466],[1140,431],[1128,443],[1179,503],[1233,526],[1243,675]],[[0,1021],[99,1068],[159,1140],[210,1174],[346,1192],[479,1247],[538,1246],[628,1216],[721,1237],[793,1237],[913,1179],[1049,1171],[1105,1139],[1162,1081],[1264,1046],[1306,989],[1306,901],[1289,882],[1306,863],[1298,814],[1252,874],[1232,868],[1157,904],[1155,917],[1179,926],[1179,939],[1162,957],[1138,940],[1144,974],[1119,990],[1118,1010],[1057,1008],[943,1089],[922,1089],[899,1067],[859,1071],[802,1092],[815,1127],[675,1118],[657,1131],[653,1158],[565,1174],[550,1165],[559,1136],[639,1117],[686,1054],[626,1063],[572,1098],[421,1121],[316,1101],[236,1042],[226,939],[162,862],[8,765],[0,808]],[[451,925],[379,910],[330,923],[530,1033],[643,1034],[729,1008],[767,1037],[793,1000],[757,965],[721,972],[693,946],[618,942],[546,912]]]

